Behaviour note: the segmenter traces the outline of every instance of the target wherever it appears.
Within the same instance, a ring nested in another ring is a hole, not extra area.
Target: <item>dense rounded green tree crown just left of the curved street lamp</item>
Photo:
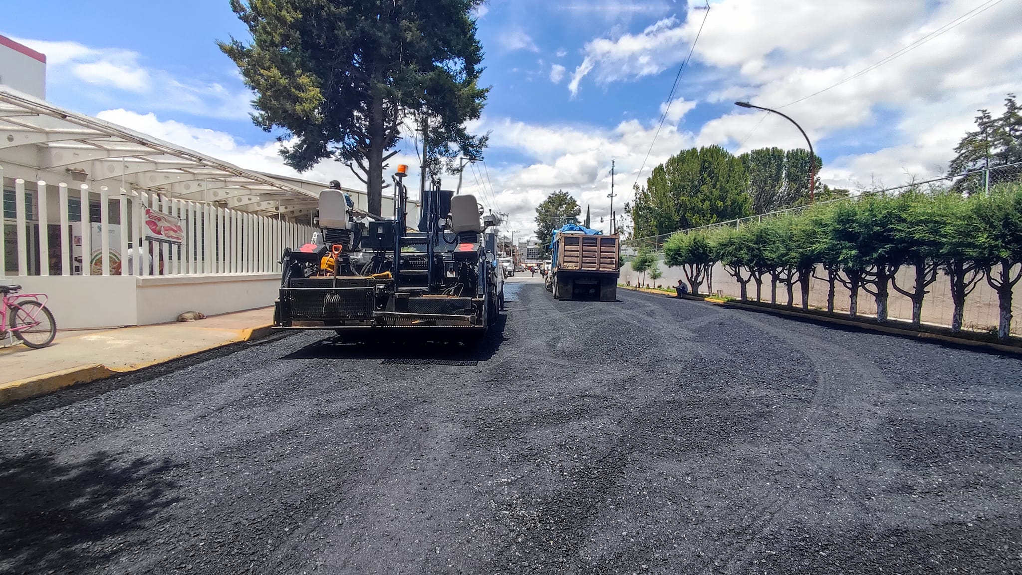
[[[742,162],[721,146],[672,156],[636,191],[633,234],[648,237],[748,216],[747,179]]]

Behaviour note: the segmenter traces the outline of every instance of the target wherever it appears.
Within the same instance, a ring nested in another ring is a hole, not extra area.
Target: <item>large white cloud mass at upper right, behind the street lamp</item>
[[[845,139],[854,139],[856,147],[873,145],[873,151],[834,159],[824,170],[828,183],[853,187],[854,182],[879,180],[897,185],[910,177],[942,173],[955,144],[971,129],[975,110],[1000,109],[1005,94],[1018,89],[1022,30],[1014,23],[1022,19],[1022,5],[1004,2],[973,11],[988,4],[722,0],[713,4],[695,57],[730,82],[713,90],[710,101],[748,99],[773,107],[790,103],[783,112],[814,142],[822,140],[825,148],[817,148],[825,157],[832,156],[826,145],[842,145]],[[959,19],[964,14],[974,17]],[[943,28],[955,21],[961,25]],[[698,24],[676,28],[691,39]],[[791,34],[793,30],[799,33]],[[792,103],[940,31],[875,70]],[[644,53],[655,58],[653,52]],[[881,121],[885,125],[878,126]],[[828,140],[838,134],[841,141]],[[737,151],[805,145],[783,118],[737,107],[707,122],[696,141],[742,144]]]

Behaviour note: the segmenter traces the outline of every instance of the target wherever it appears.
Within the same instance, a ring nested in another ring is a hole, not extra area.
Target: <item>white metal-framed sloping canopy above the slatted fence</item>
[[[264,215],[309,214],[318,200],[270,175],[0,86],[0,159],[26,148],[34,151],[39,170],[114,189],[158,190]]]

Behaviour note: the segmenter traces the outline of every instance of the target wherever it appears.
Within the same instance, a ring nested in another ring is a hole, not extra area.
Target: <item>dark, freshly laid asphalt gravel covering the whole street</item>
[[[508,284],[0,410],[2,573],[1022,572],[1022,360]]]

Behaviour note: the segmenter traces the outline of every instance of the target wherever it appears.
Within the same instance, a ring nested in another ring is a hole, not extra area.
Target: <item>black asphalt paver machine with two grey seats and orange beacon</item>
[[[319,197],[320,232],[285,249],[274,326],[335,329],[345,340],[443,335],[478,341],[498,318],[503,277],[471,194],[424,190],[417,231],[407,219],[406,166],[393,176],[394,217],[354,212],[344,193]]]

